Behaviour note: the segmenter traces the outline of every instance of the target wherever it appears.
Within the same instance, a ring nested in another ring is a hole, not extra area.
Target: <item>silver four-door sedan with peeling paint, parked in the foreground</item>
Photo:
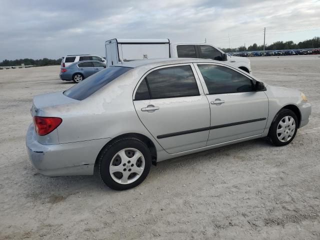
[[[168,158],[258,137],[286,145],[310,113],[302,92],[221,61],[138,60],[35,96],[26,146],[44,175],[93,174],[96,166],[122,190]]]

